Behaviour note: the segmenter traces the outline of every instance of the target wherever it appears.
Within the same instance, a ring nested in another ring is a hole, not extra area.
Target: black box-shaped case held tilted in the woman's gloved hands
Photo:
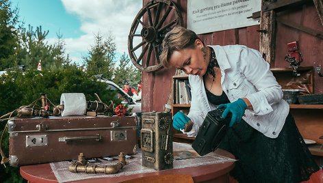
[[[224,108],[209,111],[198,130],[192,147],[200,156],[214,152],[227,132],[232,115],[229,113],[223,119],[221,117],[223,111]]]

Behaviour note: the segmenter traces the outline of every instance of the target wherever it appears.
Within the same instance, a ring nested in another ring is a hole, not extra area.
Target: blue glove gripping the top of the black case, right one
[[[234,123],[240,123],[242,116],[244,115],[244,111],[247,109],[247,104],[239,98],[235,102],[220,104],[218,108],[225,107],[225,110],[222,113],[222,117],[227,117],[228,113],[232,113],[231,121],[229,126],[233,126]]]

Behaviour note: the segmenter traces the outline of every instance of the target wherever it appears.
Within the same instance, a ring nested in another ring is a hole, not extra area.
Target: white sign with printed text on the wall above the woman
[[[260,10],[260,0],[188,0],[188,29],[201,34],[259,25],[247,17]]]

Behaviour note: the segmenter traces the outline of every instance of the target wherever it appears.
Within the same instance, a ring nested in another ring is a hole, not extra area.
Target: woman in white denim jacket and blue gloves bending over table
[[[189,75],[190,113],[174,115],[173,126],[194,137],[207,112],[224,107],[232,118],[220,148],[238,160],[238,182],[302,182],[319,170],[282,99],[269,64],[242,45],[205,46],[196,33],[175,27],[163,41],[160,59]]]

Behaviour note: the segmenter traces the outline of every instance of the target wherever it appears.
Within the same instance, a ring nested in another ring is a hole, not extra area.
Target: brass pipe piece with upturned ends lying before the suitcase
[[[72,163],[68,166],[68,170],[74,173],[83,172],[83,173],[105,173],[105,174],[114,174],[118,173],[120,169],[125,167],[126,158],[123,152],[120,152],[118,163],[111,166],[99,167],[96,165],[86,165],[86,160],[83,156],[83,153],[79,154],[78,160],[76,163]]]

